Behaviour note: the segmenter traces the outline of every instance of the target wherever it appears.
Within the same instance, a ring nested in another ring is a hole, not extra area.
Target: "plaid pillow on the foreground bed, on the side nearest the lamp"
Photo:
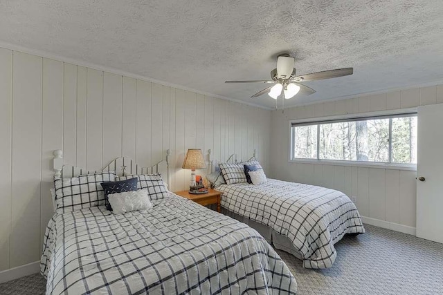
[[[151,200],[159,200],[169,196],[160,173],[118,176],[116,180],[127,180],[134,177],[138,178],[137,189],[147,189]]]

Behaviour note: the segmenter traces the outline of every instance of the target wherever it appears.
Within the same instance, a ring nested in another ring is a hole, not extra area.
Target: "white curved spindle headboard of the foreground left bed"
[[[112,160],[101,171],[116,171],[118,176],[133,174],[160,173],[163,180],[170,183],[169,158],[171,151],[166,151],[166,160],[158,162],[154,166],[143,167],[128,157],[120,157]],[[71,178],[78,175],[93,174],[98,171],[87,171],[82,168],[63,164],[63,152],[59,149],[53,152],[54,178]]]

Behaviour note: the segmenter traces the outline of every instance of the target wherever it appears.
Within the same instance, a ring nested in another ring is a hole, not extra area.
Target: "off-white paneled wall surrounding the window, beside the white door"
[[[272,111],[271,173],[274,178],[338,189],[356,197],[362,216],[415,227],[416,171],[361,166],[289,163],[289,120],[368,113],[443,103],[443,86],[412,88]],[[377,223],[377,225],[379,225]],[[412,231],[408,231],[412,232]]]

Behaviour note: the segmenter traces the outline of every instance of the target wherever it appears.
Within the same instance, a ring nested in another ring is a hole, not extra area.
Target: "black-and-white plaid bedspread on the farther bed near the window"
[[[221,184],[221,207],[287,236],[306,268],[331,267],[334,244],[345,234],[364,233],[354,203],[341,191],[268,179],[264,184]]]

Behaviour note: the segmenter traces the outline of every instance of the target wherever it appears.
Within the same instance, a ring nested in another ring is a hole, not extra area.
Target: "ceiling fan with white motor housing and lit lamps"
[[[330,79],[352,75],[353,68],[337,68],[335,70],[325,70],[323,72],[310,73],[306,75],[296,76],[296,68],[294,68],[295,59],[287,54],[279,55],[277,59],[277,68],[271,70],[271,80],[250,80],[250,81],[226,81],[225,83],[265,83],[274,84],[264,88],[262,91],[255,93],[251,97],[259,97],[268,93],[273,99],[277,99],[280,94],[284,94],[284,98],[289,99],[297,93],[303,95],[311,95],[316,93],[314,89],[300,82],[315,81],[322,79]]]

